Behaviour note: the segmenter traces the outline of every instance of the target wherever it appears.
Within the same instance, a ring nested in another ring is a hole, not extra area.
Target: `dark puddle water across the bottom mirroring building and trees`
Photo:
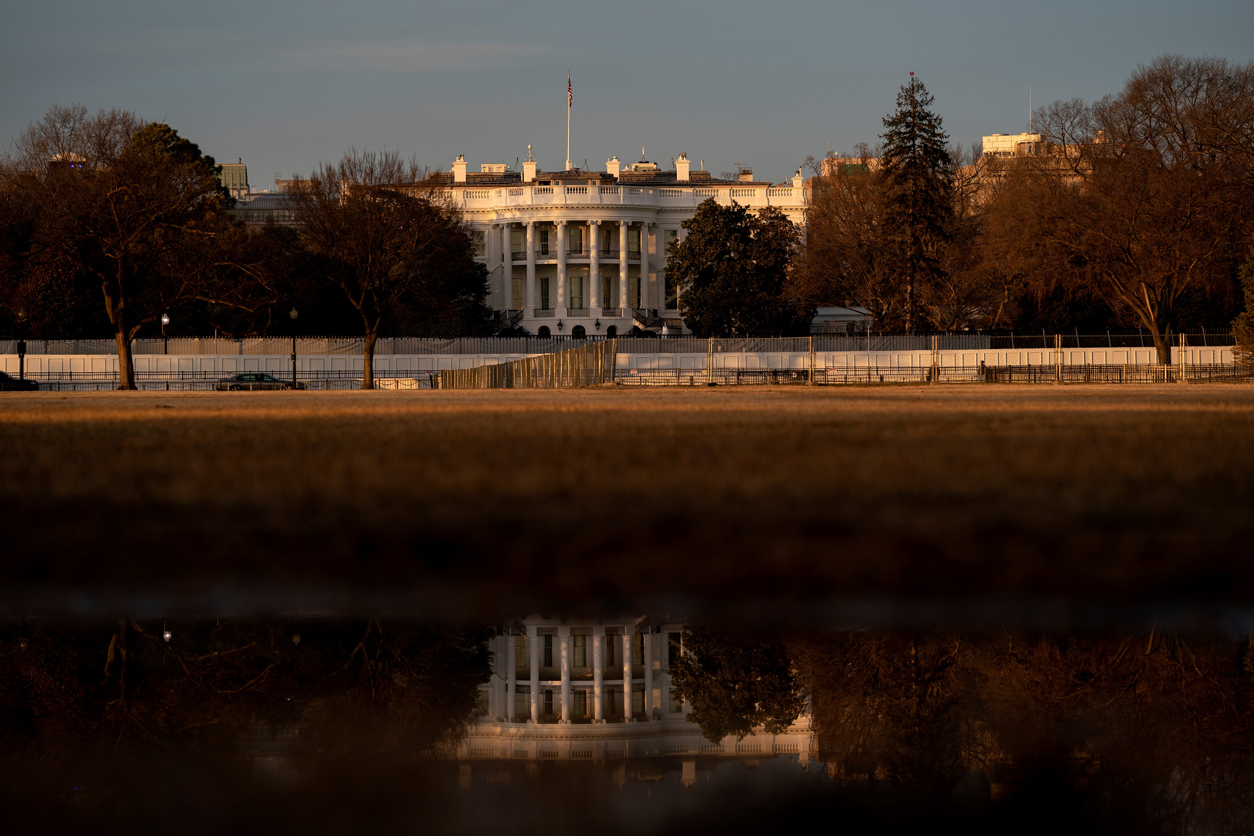
[[[0,792],[31,827],[1254,831],[1248,639],[535,615],[0,642]]]

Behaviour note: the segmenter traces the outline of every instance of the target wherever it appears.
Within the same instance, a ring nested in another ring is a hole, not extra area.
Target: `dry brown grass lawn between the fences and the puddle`
[[[5,392],[0,451],[10,607],[1254,593],[1254,387]]]

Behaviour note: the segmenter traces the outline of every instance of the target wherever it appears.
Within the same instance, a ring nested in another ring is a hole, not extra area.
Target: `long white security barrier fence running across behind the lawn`
[[[1219,338],[1231,342],[1231,338]],[[1072,345],[1068,347],[1066,342]],[[1116,345],[1122,342],[1124,345]],[[1215,341],[1211,335],[1209,342]],[[1014,343],[1008,346],[1007,343]],[[622,384],[697,385],[750,382],[893,382],[988,381],[1061,382],[1244,379],[1231,345],[1171,347],[1170,365],[1160,366],[1151,346],[1129,345],[1129,337],[1022,337],[987,335],[894,336],[839,335],[761,340],[618,338],[613,367]],[[1144,340],[1142,340],[1144,342]],[[1026,346],[1023,343],[1027,343]],[[1106,345],[1099,345],[1106,343]],[[1179,340],[1176,340],[1179,343]],[[512,363],[578,346],[606,346],[598,338],[464,337],[450,340],[380,340],[374,375],[381,387],[438,385],[443,371]],[[28,341],[24,374],[46,389],[112,389],[118,358],[110,340]],[[137,341],[137,382],[145,389],[212,389],[240,372],[292,376],[291,340]],[[300,338],[296,376],[308,389],[360,385],[360,338]],[[0,368],[16,376],[13,341],[0,341]],[[250,350],[245,353],[245,350]],[[41,350],[41,351],[40,351]],[[112,384],[112,385],[110,385]]]

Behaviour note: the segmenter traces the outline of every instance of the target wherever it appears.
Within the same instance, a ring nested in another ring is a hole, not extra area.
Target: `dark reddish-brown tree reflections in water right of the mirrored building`
[[[1245,643],[860,632],[799,647],[834,776],[934,798],[968,770],[1011,793],[1053,776],[1132,828],[1254,832]]]

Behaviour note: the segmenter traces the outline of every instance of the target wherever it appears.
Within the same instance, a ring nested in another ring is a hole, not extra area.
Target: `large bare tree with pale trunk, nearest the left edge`
[[[119,389],[135,387],[130,343],[143,326],[189,300],[238,303],[234,259],[218,241],[232,222],[217,170],[168,125],[78,104],[54,105],[0,165],[35,213],[30,257],[99,282]]]

